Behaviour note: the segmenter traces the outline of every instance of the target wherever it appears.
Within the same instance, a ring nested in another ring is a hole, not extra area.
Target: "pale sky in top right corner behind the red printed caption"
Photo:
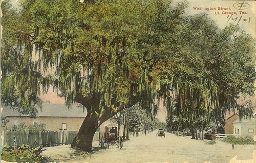
[[[177,3],[179,1],[174,1],[174,2]],[[195,7],[215,8],[215,10],[209,10],[209,11],[195,10]],[[251,34],[253,37],[256,37],[256,32],[255,32],[256,31],[255,29],[256,2],[255,1],[188,1],[188,8],[187,8],[188,14],[194,15],[202,12],[206,12],[209,15],[209,17],[212,20],[214,20],[220,28],[224,28],[229,23],[233,23],[235,25],[239,24],[241,29],[245,30],[247,33]],[[227,14],[227,12],[229,14]],[[231,17],[232,12],[233,12],[233,15]]]

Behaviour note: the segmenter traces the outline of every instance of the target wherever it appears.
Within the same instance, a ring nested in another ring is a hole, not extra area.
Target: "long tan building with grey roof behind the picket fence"
[[[43,123],[46,124],[46,130],[50,131],[78,131],[87,115],[86,109],[83,111],[82,108],[74,105],[68,109],[65,104],[51,104],[49,102],[42,103],[42,110],[38,110],[38,118],[36,119],[31,119],[29,115],[20,114],[8,106],[2,106],[2,108],[1,120],[7,118],[9,122],[6,126],[2,122],[1,130],[11,129],[20,123],[25,123],[27,127]]]

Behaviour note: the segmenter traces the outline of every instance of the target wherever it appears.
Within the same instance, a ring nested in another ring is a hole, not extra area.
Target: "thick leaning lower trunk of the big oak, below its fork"
[[[95,114],[87,114],[76,137],[73,139],[71,148],[90,151],[92,149],[93,136],[98,128],[98,118]]]

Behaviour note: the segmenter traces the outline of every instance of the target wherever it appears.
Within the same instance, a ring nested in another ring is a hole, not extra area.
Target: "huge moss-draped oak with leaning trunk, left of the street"
[[[4,1],[2,102],[35,117],[40,85],[44,92],[52,85],[68,106],[87,109],[72,147],[91,148],[96,129],[117,111],[138,102],[152,109],[151,73],[186,6],[169,5],[24,0],[17,11]]]

